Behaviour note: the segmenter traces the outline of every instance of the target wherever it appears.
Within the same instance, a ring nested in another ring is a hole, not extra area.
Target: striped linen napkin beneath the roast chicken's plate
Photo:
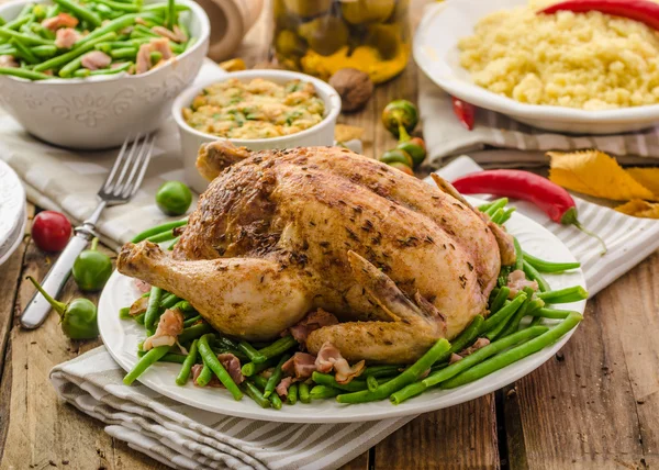
[[[439,174],[450,180],[480,169],[469,157],[460,157]],[[606,256],[600,256],[591,237],[550,222],[533,206],[514,203],[568,245],[583,264],[591,294],[659,248],[659,222],[580,199],[577,204],[582,223],[608,245]],[[56,366],[51,380],[63,400],[103,422],[108,434],[176,469],[334,469],[414,417],[325,425],[252,421],[200,411],[141,384],[126,387],[124,373],[99,347]]]

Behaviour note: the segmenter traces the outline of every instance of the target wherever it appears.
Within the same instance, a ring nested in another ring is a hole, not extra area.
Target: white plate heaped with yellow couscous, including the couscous
[[[597,11],[538,13],[552,3],[438,3],[414,58],[451,96],[535,127],[608,134],[659,123],[659,32]]]

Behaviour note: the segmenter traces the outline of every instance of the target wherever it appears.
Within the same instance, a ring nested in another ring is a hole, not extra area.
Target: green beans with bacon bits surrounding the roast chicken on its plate
[[[479,210],[502,225],[514,212],[506,209],[506,204],[504,198]],[[178,242],[176,228],[186,224],[186,220],[167,223],[143,232],[132,242],[147,239],[167,244],[172,249]],[[477,315],[450,343],[437,340],[413,365],[368,365],[358,377],[340,383],[335,376],[319,371],[306,379],[284,377],[284,365],[300,351],[292,336],[271,344],[249,344],[227,337],[213,329],[189,302],[152,287],[132,306],[122,309],[120,316],[144,325],[149,337],[168,309],[178,310],[183,318],[182,333],[174,346],[154,344],[145,351],[139,345],[139,359],[125,376],[124,383],[131,384],[157,361],[176,362],[181,365],[176,377],[178,385],[186,385],[193,376],[196,387],[222,384],[235,400],[247,395],[261,407],[280,410],[283,403],[294,405],[298,401],[311,403],[326,399],[351,404],[389,399],[398,405],[428,389],[446,390],[473,382],[552,345],[582,320],[578,312],[550,305],[584,300],[588,292],[580,286],[551,290],[543,276],[578,269],[579,262],[539,259],[524,251],[516,239],[515,251],[515,265],[501,269],[498,286],[490,295],[487,317]],[[511,287],[512,272],[524,275],[517,279],[518,289]],[[515,291],[511,292],[512,289]],[[545,325],[545,318],[560,322]],[[233,372],[230,373],[232,368],[224,367],[219,359],[227,352],[239,361],[241,380],[234,380]],[[280,393],[278,385],[287,379],[286,393]]]

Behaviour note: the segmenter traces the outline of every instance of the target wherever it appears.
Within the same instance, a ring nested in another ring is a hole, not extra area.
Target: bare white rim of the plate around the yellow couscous
[[[639,131],[659,122],[659,104],[585,111],[521,103],[474,85],[460,66],[458,40],[473,34],[473,26],[481,18],[527,3],[527,0],[447,0],[428,7],[414,36],[416,64],[447,93],[548,131],[614,134]]]

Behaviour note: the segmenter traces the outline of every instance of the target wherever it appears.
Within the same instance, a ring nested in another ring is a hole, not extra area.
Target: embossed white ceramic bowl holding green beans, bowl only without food
[[[0,5],[11,20],[32,0]],[[35,137],[62,147],[110,148],[127,135],[153,132],[169,116],[171,102],[192,82],[209,48],[210,23],[201,7],[181,15],[197,42],[167,65],[138,76],[30,81],[0,76],[0,105]]]

